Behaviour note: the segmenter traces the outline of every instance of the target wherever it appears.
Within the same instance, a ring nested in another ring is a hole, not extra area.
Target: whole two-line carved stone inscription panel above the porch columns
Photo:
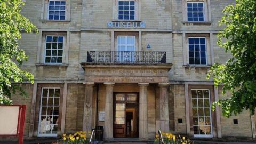
[[[165,68],[85,68],[85,82],[167,83]]]

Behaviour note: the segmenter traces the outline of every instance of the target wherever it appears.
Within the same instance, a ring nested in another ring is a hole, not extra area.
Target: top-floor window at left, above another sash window
[[[49,1],[48,19],[65,20],[66,1]]]

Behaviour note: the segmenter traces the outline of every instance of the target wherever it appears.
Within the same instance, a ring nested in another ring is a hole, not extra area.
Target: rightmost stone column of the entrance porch
[[[160,130],[169,132],[168,83],[159,83],[160,87]]]

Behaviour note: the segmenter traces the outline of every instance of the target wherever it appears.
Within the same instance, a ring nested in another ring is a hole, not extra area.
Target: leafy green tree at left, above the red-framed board
[[[38,31],[29,19],[20,14],[24,4],[22,0],[0,0],[0,105],[11,104],[9,98],[17,90],[26,95],[20,86],[13,83],[25,80],[34,83],[34,76],[18,67],[28,59],[18,46],[21,32]]]

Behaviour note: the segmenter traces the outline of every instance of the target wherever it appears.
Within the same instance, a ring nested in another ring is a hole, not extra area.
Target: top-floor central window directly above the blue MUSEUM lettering
[[[135,20],[135,1],[118,1],[118,19]]]

